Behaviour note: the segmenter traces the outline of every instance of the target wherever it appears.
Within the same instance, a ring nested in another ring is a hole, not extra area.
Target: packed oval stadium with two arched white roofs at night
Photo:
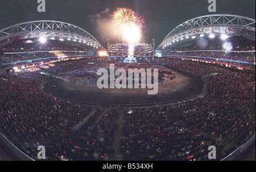
[[[38,161],[40,145],[47,161],[205,161],[211,145],[228,161],[255,150],[255,19],[198,16],[156,49],[108,45],[56,20],[1,28],[0,143],[11,159]],[[157,68],[158,93],[98,88],[110,64]]]

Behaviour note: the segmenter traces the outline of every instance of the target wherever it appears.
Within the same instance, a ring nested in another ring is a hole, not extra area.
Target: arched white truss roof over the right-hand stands
[[[210,34],[248,35],[255,39],[255,19],[239,15],[216,14],[190,19],[174,28],[156,50],[180,40]]]

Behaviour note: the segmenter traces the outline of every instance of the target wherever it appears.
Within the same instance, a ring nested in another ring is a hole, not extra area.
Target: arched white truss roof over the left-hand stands
[[[77,41],[81,44],[104,49],[90,33],[76,25],[53,20],[36,20],[12,25],[0,30],[0,42],[46,36],[60,40]]]

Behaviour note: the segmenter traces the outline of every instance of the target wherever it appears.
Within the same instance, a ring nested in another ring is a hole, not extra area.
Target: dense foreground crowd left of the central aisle
[[[47,160],[105,160],[111,148],[117,113],[106,114],[88,131],[73,131],[96,107],[60,100],[40,90],[45,78],[0,76],[0,131],[28,156],[37,160],[44,145]]]

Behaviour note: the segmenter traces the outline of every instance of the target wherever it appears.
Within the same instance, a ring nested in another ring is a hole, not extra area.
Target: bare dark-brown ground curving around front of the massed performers
[[[148,89],[99,89],[55,78],[50,78],[47,81],[44,91],[69,100],[92,102],[101,106],[112,104],[159,104],[159,102],[195,96],[202,92],[204,82],[201,79],[171,71],[176,75],[176,79],[169,84],[159,85],[158,94],[156,95],[148,95]]]

